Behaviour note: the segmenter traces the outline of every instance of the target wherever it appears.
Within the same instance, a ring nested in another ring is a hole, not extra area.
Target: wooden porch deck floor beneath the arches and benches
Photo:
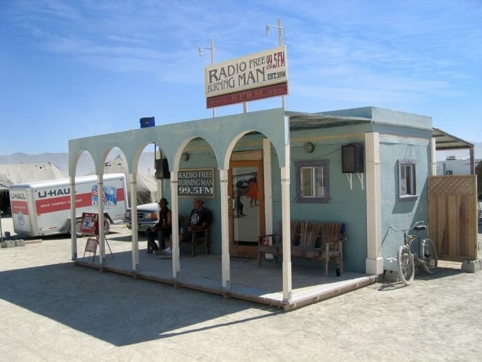
[[[284,310],[293,310],[304,305],[316,303],[324,299],[350,292],[375,282],[376,276],[343,272],[335,276],[335,270],[329,270],[328,276],[322,276],[322,268],[292,263],[292,295],[290,301],[283,301],[282,263],[266,261],[258,267],[258,260],[231,257],[231,286],[222,289],[221,256],[212,254],[196,254],[192,258],[186,248],[181,248],[180,274],[177,280],[172,277],[171,259],[160,259],[154,254],[147,254],[146,242],[139,241],[139,268],[132,270],[132,243],[126,237],[111,237],[109,248],[106,248],[103,271],[116,272],[136,278],[149,279],[168,283],[178,287],[191,288],[254,301],[266,305],[274,305]],[[100,269],[99,259],[94,260],[90,253],[84,254],[85,239],[78,240],[78,265]],[[188,246],[188,245],[181,245]]]

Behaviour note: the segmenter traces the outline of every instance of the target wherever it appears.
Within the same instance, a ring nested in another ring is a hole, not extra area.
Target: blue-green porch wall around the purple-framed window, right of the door
[[[363,143],[363,132],[360,131],[362,131],[362,128],[351,126],[336,128],[336,130],[292,132],[290,194],[291,219],[345,223],[344,267],[346,270],[364,272],[366,259],[366,193],[364,188],[362,190],[362,184],[356,174],[353,174],[352,189],[350,190],[348,178],[346,174],[342,173],[342,145],[353,142]],[[304,152],[306,141],[315,145],[315,150],[311,154]],[[328,174],[330,201],[328,203],[298,203],[296,200],[297,174],[295,162],[307,160],[328,160],[330,162]],[[275,159],[272,161],[273,219],[275,230],[277,230],[281,219],[280,172]]]

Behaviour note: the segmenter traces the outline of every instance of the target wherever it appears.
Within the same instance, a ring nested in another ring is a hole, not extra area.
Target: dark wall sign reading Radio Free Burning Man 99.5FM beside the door
[[[179,197],[214,197],[214,169],[193,168],[178,172]]]

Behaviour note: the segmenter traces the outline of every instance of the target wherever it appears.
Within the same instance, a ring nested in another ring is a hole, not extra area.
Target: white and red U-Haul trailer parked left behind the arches
[[[97,190],[97,177],[75,178],[76,231],[83,212],[98,212],[104,203],[105,232],[110,223],[122,222],[127,210],[127,184],[124,174],[104,174],[103,192]],[[55,179],[10,185],[10,206],[14,232],[28,237],[64,234],[71,230],[70,179]]]

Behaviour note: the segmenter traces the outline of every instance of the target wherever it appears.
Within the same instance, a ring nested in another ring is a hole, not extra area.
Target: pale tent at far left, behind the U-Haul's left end
[[[65,172],[50,162],[0,165],[0,208],[3,212],[10,213],[8,188],[14,183],[30,183],[67,177]]]

